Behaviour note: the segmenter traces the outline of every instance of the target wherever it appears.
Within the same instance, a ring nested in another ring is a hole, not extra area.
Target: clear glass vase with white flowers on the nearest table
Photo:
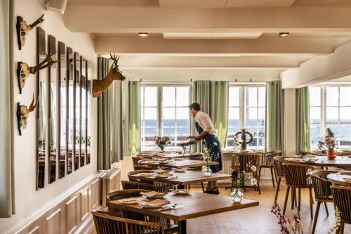
[[[232,177],[235,179],[234,183],[234,192],[232,193],[231,197],[233,202],[241,202],[243,199],[243,194],[240,192],[240,188],[244,186],[246,181],[251,181],[252,186],[257,186],[257,179],[251,175],[251,173],[256,173],[257,167],[249,162],[246,164],[246,169],[244,171],[233,171]],[[245,178],[245,174],[250,173],[249,176]]]

